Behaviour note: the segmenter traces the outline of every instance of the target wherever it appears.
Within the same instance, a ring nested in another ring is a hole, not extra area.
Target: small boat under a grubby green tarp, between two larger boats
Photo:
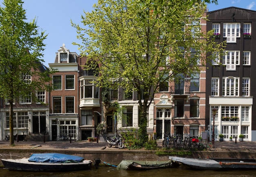
[[[174,162],[173,160],[165,160],[165,161],[136,161],[136,160],[122,160],[117,169],[122,170],[150,170],[156,168],[172,168],[176,167],[179,164]]]

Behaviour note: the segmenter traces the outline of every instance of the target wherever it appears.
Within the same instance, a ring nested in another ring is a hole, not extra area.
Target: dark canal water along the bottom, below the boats
[[[98,169],[74,172],[16,172],[0,169],[1,177],[253,177],[256,170],[191,170],[184,166],[146,171],[117,170],[115,167],[100,166]]]

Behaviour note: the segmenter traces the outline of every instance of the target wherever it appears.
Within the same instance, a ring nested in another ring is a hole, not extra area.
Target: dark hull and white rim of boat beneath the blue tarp
[[[2,159],[2,163],[7,170],[14,171],[38,171],[38,172],[57,172],[57,171],[77,171],[88,170],[92,166],[91,160],[83,160],[81,163],[47,163],[29,162],[24,159]]]

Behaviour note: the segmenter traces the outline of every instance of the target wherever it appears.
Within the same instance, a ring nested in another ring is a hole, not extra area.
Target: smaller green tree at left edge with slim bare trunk
[[[33,20],[26,22],[22,0],[4,0],[0,7],[0,96],[9,102],[10,145],[13,139],[13,101],[35,91],[49,91],[49,74],[42,62],[47,37]],[[32,78],[31,81],[30,77]],[[27,80],[28,79],[28,80]],[[31,94],[34,93],[34,94]]]

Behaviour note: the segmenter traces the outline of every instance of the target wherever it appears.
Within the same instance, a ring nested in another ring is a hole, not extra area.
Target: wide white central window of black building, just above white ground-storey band
[[[222,96],[238,96],[238,78],[223,77]]]

